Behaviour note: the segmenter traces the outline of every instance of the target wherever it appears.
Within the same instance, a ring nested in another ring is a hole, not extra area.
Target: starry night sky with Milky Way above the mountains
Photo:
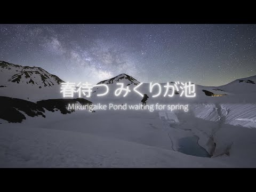
[[[0,25],[0,60],[74,83],[218,86],[256,75],[256,25]]]

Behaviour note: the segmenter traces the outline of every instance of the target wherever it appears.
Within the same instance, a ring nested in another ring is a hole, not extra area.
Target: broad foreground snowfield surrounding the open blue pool
[[[76,111],[62,115],[49,111],[45,119],[28,117],[21,124],[6,123],[0,125],[0,167],[256,166],[256,129],[224,125],[214,140],[217,153],[212,158],[197,157],[179,153],[179,139],[196,134],[207,148],[206,127],[211,132],[215,123],[189,114],[177,116],[180,125],[165,126],[158,113]]]

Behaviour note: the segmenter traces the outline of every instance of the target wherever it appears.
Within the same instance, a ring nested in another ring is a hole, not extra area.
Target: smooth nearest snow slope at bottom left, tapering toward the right
[[[9,124],[0,127],[0,135],[0,167],[230,167],[214,159],[85,133]]]

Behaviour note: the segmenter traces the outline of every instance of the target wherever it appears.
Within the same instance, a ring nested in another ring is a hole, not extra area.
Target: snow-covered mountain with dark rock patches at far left
[[[41,67],[23,67],[0,61],[0,96],[29,101],[59,99],[62,98],[62,82]]]

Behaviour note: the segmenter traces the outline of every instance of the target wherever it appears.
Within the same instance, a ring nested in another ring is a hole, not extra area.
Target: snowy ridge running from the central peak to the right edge
[[[170,79],[170,80],[175,80],[175,79]],[[244,97],[241,96],[241,94],[248,94],[246,95],[246,101],[247,102],[253,102],[254,94],[256,94],[256,76],[252,77],[247,77],[247,78],[242,78],[242,79],[237,79],[227,85],[222,85],[222,86],[202,86],[202,85],[196,85],[195,84],[195,90],[196,90],[196,97],[195,98],[185,98],[180,97],[181,89],[179,91],[175,91],[175,94],[172,97],[172,101],[193,101],[193,102],[208,102],[208,101],[214,101],[217,100],[215,97],[222,97],[222,101],[229,101],[229,102],[240,102],[244,99]],[[116,85],[116,83],[123,83],[124,88],[126,89],[126,86],[129,87],[129,92],[125,98],[122,97],[115,97],[114,91],[118,89],[120,86]],[[101,81],[98,84],[106,84],[109,87],[109,93],[108,95],[105,95],[105,99],[111,99],[111,100],[133,100],[133,101],[140,101],[141,100],[141,95],[133,91],[133,88],[137,85],[139,85],[141,82],[137,81],[135,78],[126,75],[126,74],[120,74],[117,75],[116,77],[107,79],[105,81]],[[157,83],[157,82],[153,82]],[[183,82],[185,83],[185,82]],[[153,91],[150,92],[149,90],[149,83],[144,83],[141,84],[138,87],[138,91],[141,94],[147,94],[149,96],[149,102],[150,101],[159,101],[159,102],[169,102],[170,98],[168,97],[163,97],[163,94],[166,90],[164,86],[166,83],[160,83],[162,86],[162,93],[159,97],[157,98],[152,98],[152,95],[158,93],[158,88],[154,87]],[[175,82],[169,82],[169,85],[174,85]],[[179,86],[178,86],[179,87]],[[95,95],[100,94],[104,92],[105,88],[104,87],[94,87],[93,92],[92,92],[92,100],[98,101],[98,99],[102,98],[97,98]],[[238,95],[239,94],[239,95]],[[213,99],[213,97],[215,99]],[[230,99],[230,97],[232,99]],[[220,99],[218,99],[220,100]]]

